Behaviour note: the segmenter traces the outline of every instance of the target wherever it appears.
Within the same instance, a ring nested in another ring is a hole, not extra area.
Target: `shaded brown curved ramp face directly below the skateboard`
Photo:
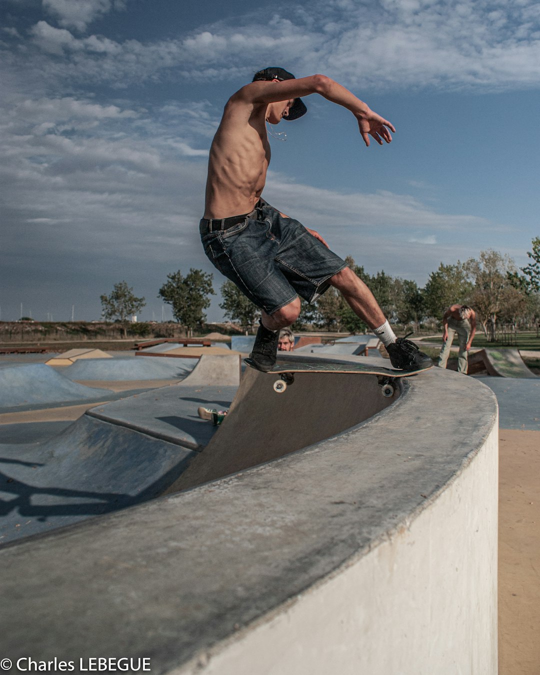
[[[292,358],[280,358],[286,371]],[[167,493],[275,460],[341,433],[387,408],[402,390],[398,381],[394,397],[385,398],[376,375],[296,373],[294,384],[277,394],[273,383],[278,378],[276,373],[246,369],[219,432],[191,459],[189,468]]]

